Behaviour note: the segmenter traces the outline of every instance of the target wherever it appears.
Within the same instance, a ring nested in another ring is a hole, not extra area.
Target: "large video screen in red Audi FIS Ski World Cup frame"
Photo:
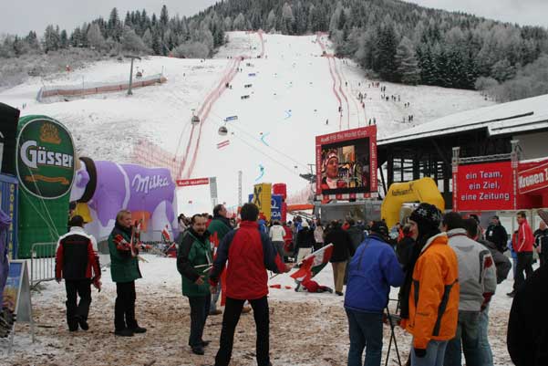
[[[377,193],[377,126],[315,138],[318,196],[367,198]]]

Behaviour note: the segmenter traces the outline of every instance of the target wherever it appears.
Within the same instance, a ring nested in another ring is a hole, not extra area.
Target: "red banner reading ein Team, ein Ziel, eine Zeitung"
[[[453,210],[515,210],[516,171],[512,162],[459,165],[453,172]]]

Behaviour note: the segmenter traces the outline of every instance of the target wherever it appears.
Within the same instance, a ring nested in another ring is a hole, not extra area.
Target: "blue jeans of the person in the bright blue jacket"
[[[346,308],[350,333],[348,366],[379,366],[382,357],[382,313],[366,313]],[[366,350],[366,357],[361,358]]]

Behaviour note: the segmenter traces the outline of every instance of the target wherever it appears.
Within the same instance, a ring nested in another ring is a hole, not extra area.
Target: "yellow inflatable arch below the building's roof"
[[[401,205],[413,202],[434,204],[442,213],[445,210],[445,200],[439,193],[436,182],[425,177],[417,181],[392,183],[380,207],[380,215],[386,220],[388,227],[392,227],[399,221]]]

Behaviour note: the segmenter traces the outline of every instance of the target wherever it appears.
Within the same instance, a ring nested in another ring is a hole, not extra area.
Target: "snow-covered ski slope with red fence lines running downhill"
[[[136,89],[131,97],[116,92],[69,102],[36,102],[43,84],[126,80],[129,61],[113,59],[47,80],[31,78],[1,91],[0,101],[17,108],[26,103],[22,115],[46,114],[65,123],[78,152],[95,160],[131,162],[135,145],[152,141],[181,156],[181,177],[216,176],[219,202],[229,206],[237,204],[238,171],[243,172],[243,201],[253,183],[284,182],[290,194],[302,190],[306,183],[298,174],[308,173],[307,164],[315,162],[315,135],[365,126],[375,119],[379,136],[388,136],[413,124],[492,104],[474,91],[390,83],[381,86],[400,101],[381,100],[380,89],[368,88],[371,80],[352,61],[322,57],[323,50],[327,56],[333,52],[325,35],[233,32],[229,38],[213,59],[143,58],[136,68],[145,76],[163,73],[168,82]],[[231,76],[232,89],[226,89],[223,80]],[[357,100],[359,92],[367,93],[365,108]],[[245,95],[249,98],[242,99]],[[407,102],[409,108],[404,107]],[[206,116],[201,124],[192,126],[192,110]],[[412,124],[403,123],[410,114]],[[225,123],[229,116],[238,119]],[[218,134],[223,125],[226,136]],[[228,145],[218,148],[223,141]],[[179,211],[210,211],[209,194],[207,186],[180,189]]]

